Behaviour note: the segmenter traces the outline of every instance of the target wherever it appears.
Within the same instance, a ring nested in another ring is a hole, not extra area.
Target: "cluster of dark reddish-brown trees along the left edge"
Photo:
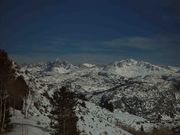
[[[15,99],[20,97],[19,95],[24,98],[25,93],[28,93],[28,87],[25,87],[26,83],[22,80],[22,77],[16,78],[12,61],[8,54],[0,49],[0,133],[10,129],[10,106],[15,106]],[[25,93],[22,93],[23,91]]]

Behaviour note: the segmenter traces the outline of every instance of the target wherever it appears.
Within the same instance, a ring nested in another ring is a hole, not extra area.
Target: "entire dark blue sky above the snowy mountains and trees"
[[[180,66],[179,0],[1,0],[0,48],[22,62]]]

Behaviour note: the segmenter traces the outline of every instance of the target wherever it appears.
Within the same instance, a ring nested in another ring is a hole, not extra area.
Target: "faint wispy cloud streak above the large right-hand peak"
[[[152,36],[152,37],[123,37],[104,42],[107,48],[136,48],[141,50],[157,50],[167,47],[179,47],[180,35]],[[180,49],[180,48],[179,48]]]

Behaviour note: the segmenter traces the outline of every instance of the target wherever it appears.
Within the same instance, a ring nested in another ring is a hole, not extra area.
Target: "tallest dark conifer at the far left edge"
[[[8,127],[9,123],[9,104],[8,104],[8,82],[15,77],[12,68],[12,61],[7,53],[0,49],[0,132]]]

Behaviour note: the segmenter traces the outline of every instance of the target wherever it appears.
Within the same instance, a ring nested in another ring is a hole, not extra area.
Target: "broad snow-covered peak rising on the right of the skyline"
[[[177,72],[176,68],[161,67],[144,61],[133,59],[116,61],[107,65],[102,72],[117,74],[125,77],[137,77],[146,75],[163,75]]]

